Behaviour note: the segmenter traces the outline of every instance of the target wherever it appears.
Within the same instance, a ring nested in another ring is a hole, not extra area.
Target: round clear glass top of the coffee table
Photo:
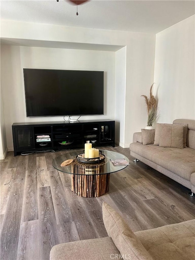
[[[113,151],[101,150],[101,153],[105,155],[105,160],[100,163],[83,163],[78,162],[76,157],[79,154],[82,154],[83,150],[71,151],[64,155],[60,155],[53,159],[52,165],[55,169],[63,172],[74,175],[98,175],[106,173],[115,173],[126,168],[128,165],[120,165],[120,160],[116,162],[114,166],[111,162],[112,159],[125,159],[129,163],[129,159],[120,153]],[[61,166],[61,163],[73,159],[73,162],[68,166]]]

